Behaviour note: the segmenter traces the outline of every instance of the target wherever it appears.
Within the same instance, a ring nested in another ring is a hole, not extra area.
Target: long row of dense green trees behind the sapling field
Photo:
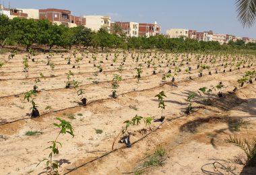
[[[158,48],[172,51],[198,51],[198,50],[228,50],[230,48],[256,48],[255,45],[230,43],[220,45],[218,42],[198,42],[183,38],[166,38],[163,35],[126,38],[125,34],[115,26],[113,34],[101,28],[93,32],[84,26],[67,28],[51,24],[48,20],[26,20],[15,17],[10,20],[0,15],[0,47],[5,45],[22,44],[28,50],[33,44],[48,46],[92,46],[94,48],[127,48],[151,49]],[[248,45],[248,46],[247,46]]]

